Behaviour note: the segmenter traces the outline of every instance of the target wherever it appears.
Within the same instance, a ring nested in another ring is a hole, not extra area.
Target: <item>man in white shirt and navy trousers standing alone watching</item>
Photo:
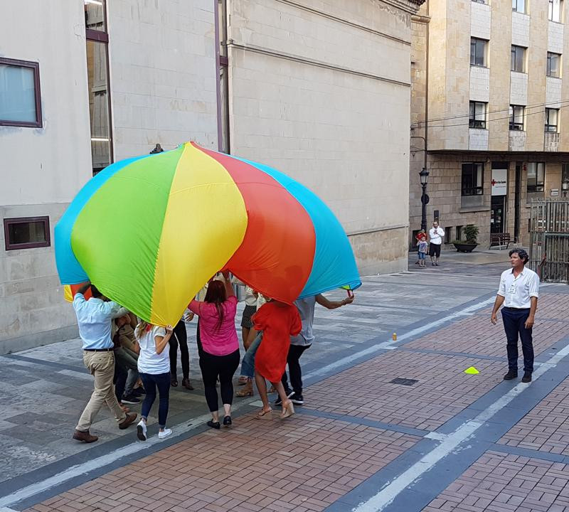
[[[523,353],[523,383],[531,382],[533,372],[533,340],[531,331],[536,317],[539,297],[539,277],[536,272],[525,267],[529,260],[523,249],[512,249],[509,252],[511,270],[502,272],[500,287],[492,309],[491,322],[496,325],[496,313],[502,308],[502,320],[508,343],[508,373],[504,380],[518,376],[518,336],[521,339]]]

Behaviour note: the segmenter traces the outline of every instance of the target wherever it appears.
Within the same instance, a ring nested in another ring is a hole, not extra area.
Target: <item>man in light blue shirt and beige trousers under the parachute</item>
[[[92,298],[87,301],[83,294],[89,287]],[[127,428],[137,417],[136,412],[129,415],[123,412],[112,384],[115,375],[115,353],[112,350],[111,321],[126,314],[127,310],[103,297],[90,282],[75,294],[73,309],[77,315],[79,335],[83,340],[83,363],[95,378],[95,390],[75,427],[73,439],[90,443],[99,439],[91,435],[89,429],[104,403],[115,415],[119,429]]]

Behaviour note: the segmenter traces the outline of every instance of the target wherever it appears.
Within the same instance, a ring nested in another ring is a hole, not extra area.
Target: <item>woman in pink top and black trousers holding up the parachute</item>
[[[203,302],[193,300],[188,308],[200,317],[200,337],[203,350],[200,353],[201,377],[206,392],[206,401],[212,419],[208,426],[220,428],[218,412],[219,377],[221,401],[225,416],[223,425],[231,425],[233,403],[233,375],[239,366],[239,341],[235,330],[237,298],[227,274],[224,282],[213,280]]]

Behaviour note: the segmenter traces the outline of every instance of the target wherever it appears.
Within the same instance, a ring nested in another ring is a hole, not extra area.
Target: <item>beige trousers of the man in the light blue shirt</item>
[[[87,432],[104,403],[107,404],[112,414],[115,415],[117,422],[122,422],[127,415],[120,408],[115,396],[115,385],[112,383],[112,379],[115,376],[115,354],[112,351],[83,351],[83,363],[95,378],[95,391],[93,391],[91,399],[87,403],[87,407],[85,407],[75,428],[81,432]]]

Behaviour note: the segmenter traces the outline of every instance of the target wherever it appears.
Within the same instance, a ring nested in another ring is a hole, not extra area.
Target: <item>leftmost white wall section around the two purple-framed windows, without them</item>
[[[0,55],[39,63],[42,128],[0,127],[0,221],[50,218],[52,246],[5,250],[0,234],[0,353],[75,336],[53,256],[53,226],[91,176],[82,2],[30,0],[0,16]]]

